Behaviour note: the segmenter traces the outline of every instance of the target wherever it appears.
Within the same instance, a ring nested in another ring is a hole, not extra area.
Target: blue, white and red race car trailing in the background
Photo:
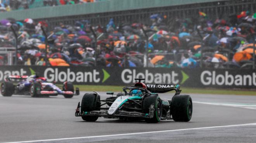
[[[15,81],[20,81],[14,84]],[[55,83],[47,82],[45,77],[31,76],[7,76],[1,84],[1,94],[3,96],[31,95],[31,97],[39,96],[57,96],[63,95],[65,98],[72,98],[79,95],[79,89],[76,88],[74,94],[74,86],[71,82],[64,82],[62,90]]]

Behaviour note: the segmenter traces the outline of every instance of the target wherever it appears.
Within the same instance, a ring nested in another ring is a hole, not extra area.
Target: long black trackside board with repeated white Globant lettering
[[[185,87],[248,88],[256,87],[256,71],[250,69],[169,69],[119,67],[44,67],[0,66],[0,81],[7,75],[38,73],[48,82],[65,81],[86,85],[133,85],[135,78],[147,84],[180,84]]]

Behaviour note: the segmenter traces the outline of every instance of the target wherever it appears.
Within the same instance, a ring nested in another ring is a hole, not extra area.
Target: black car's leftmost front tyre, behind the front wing
[[[81,102],[81,113],[90,112],[100,108],[100,96],[94,93],[85,93]],[[82,116],[84,121],[96,121],[98,116]]]

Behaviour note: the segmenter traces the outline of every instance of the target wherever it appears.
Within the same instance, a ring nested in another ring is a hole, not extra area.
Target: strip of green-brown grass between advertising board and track
[[[92,86],[92,85],[75,85],[79,87],[80,91],[113,91],[121,92],[124,86]],[[203,88],[189,88],[181,87],[182,93],[198,93],[198,94],[230,94],[230,95],[256,95],[256,90],[246,89],[203,89]]]

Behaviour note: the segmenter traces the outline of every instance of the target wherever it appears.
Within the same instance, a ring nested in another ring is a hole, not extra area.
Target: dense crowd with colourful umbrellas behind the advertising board
[[[22,65],[252,68],[255,17],[249,11],[227,19],[210,19],[204,12],[187,19],[154,14],[144,23],[110,19],[107,25],[92,25],[80,20],[54,29],[45,21],[5,19],[0,20],[0,47],[14,47],[12,25]],[[47,30],[48,47],[41,26]]]

